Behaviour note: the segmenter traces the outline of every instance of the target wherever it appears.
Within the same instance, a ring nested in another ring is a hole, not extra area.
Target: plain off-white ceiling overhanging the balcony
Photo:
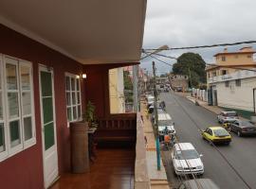
[[[1,0],[0,23],[84,64],[137,62],[146,0]]]

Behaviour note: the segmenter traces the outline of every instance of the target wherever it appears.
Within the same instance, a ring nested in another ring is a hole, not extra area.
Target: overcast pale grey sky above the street
[[[256,40],[256,0],[148,0],[143,48],[194,46]],[[237,51],[245,45],[229,46]],[[256,50],[256,45],[251,44]],[[199,53],[207,62],[224,47],[161,52],[178,57],[184,52]],[[159,58],[159,57],[157,57]],[[160,58],[169,63],[174,60]],[[155,60],[158,74],[172,68]],[[152,60],[141,66],[152,71]]]

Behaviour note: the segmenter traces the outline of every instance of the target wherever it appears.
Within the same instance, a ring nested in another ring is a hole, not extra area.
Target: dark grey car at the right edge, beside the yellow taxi
[[[230,130],[238,136],[256,135],[256,126],[249,121],[236,120],[229,124]]]

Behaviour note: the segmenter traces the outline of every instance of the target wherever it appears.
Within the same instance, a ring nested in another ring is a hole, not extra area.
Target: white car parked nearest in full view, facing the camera
[[[191,143],[177,143],[172,151],[174,171],[176,175],[204,174],[204,164]]]

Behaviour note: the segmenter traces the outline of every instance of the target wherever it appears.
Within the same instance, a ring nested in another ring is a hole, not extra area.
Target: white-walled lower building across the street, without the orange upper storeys
[[[256,69],[208,79],[212,104],[220,107],[255,112]]]

